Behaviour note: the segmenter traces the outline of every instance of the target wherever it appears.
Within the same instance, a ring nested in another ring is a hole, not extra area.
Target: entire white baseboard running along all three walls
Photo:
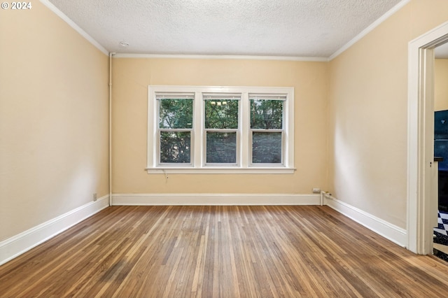
[[[407,246],[405,229],[392,225],[356,207],[339,201],[328,194],[323,203],[348,218],[384,236],[399,246]],[[113,206],[261,206],[261,205],[319,205],[320,194],[113,194]],[[58,216],[48,222],[0,242],[0,265],[12,260],[27,250],[64,232],[69,227],[89,218],[109,206],[109,195],[97,201],[80,206],[73,211]]]

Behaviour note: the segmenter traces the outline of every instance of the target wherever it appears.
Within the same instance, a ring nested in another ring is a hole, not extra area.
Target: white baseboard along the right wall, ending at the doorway
[[[405,229],[392,225],[390,222],[386,222],[386,220],[381,220],[381,218],[377,218],[343,201],[339,201],[339,199],[328,194],[324,194],[324,204],[393,243],[407,247],[407,232]]]

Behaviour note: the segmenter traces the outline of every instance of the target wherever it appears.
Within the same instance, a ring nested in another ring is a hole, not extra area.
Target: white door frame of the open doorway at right
[[[448,41],[448,22],[408,44],[407,249],[433,253],[434,48]]]

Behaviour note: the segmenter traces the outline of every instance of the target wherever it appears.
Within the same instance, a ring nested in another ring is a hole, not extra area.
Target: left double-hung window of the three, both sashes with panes
[[[194,94],[156,94],[159,164],[191,165]]]

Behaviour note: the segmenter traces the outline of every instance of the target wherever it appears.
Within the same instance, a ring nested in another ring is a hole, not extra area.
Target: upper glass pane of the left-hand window
[[[159,99],[159,128],[192,128],[193,99]]]

